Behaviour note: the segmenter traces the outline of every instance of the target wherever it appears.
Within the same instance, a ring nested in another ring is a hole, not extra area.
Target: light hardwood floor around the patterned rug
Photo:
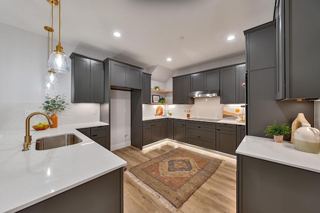
[[[184,212],[236,212],[236,160],[171,141],[164,141],[140,150],[133,146],[112,151],[125,161],[129,169],[141,162],[166,153],[178,146],[222,159],[219,168],[176,211]],[[123,202],[125,213],[170,212],[157,197],[148,193],[126,174],[123,174]]]

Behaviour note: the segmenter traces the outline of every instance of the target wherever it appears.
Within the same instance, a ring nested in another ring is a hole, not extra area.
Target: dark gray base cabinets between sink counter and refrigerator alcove
[[[103,125],[90,128],[78,128],[76,130],[110,150],[110,126]]]

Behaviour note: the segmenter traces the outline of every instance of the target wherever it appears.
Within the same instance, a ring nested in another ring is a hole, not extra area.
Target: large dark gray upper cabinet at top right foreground
[[[319,0],[275,4],[275,99],[320,97]]]

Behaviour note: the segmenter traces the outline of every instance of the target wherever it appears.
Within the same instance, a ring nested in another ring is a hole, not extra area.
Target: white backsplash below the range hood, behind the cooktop
[[[191,109],[191,117],[207,117],[222,119],[223,106],[240,106],[241,104],[221,104],[219,97],[194,98],[194,104],[165,104],[163,109],[169,109],[172,115],[185,116],[184,109]],[[154,116],[158,104],[143,104],[142,116]]]

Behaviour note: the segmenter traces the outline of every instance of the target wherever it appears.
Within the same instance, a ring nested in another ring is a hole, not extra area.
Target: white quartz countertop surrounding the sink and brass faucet
[[[83,141],[73,145],[22,151],[25,130],[0,131],[0,212],[15,212],[126,165],[126,161],[75,128],[104,122],[59,125],[34,130],[39,137],[74,133]]]

